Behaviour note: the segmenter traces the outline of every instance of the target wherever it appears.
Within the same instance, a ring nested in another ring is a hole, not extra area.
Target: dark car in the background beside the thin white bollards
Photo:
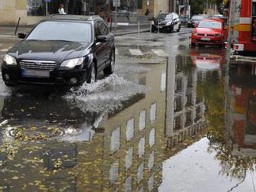
[[[179,32],[182,27],[179,16],[175,12],[160,12],[157,14],[151,24],[151,31],[153,33],[158,29],[160,31],[167,31],[168,33],[173,33],[174,30]]]

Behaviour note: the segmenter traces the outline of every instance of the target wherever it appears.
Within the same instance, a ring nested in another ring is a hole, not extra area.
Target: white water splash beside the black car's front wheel
[[[121,108],[123,101],[137,94],[144,94],[146,91],[144,85],[113,74],[95,84],[83,84],[78,89],[71,89],[64,98],[74,101],[84,112],[109,112]]]

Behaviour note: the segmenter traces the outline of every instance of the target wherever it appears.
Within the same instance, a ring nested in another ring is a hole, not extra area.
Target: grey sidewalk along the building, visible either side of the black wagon
[[[29,31],[33,28],[33,26],[19,26],[16,36],[18,33],[29,33]],[[116,31],[115,31],[116,30]],[[150,30],[149,24],[141,24],[140,25],[140,33],[148,32]],[[0,26],[0,36],[15,36],[16,26]],[[130,34],[130,33],[138,33],[137,25],[121,25],[120,26],[112,26],[112,33],[116,36]]]

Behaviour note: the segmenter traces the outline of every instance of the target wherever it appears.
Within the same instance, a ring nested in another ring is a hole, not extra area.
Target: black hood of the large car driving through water
[[[88,54],[89,43],[65,41],[23,40],[13,46],[8,54],[17,60],[63,60],[82,57]]]

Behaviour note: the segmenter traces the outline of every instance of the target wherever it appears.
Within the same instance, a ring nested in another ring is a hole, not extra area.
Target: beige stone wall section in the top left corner
[[[26,24],[26,1],[27,0],[1,0],[0,1],[0,25],[16,25],[19,17],[20,24]]]

